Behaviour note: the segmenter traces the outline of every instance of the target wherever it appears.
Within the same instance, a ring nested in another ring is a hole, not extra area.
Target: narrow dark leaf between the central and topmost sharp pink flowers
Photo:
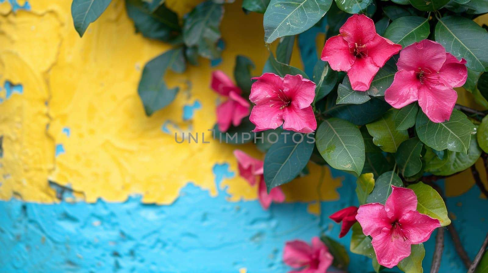
[[[312,79],[317,84],[315,88],[315,103],[334,89],[337,82],[337,71],[332,70],[327,62],[319,60],[313,68]]]

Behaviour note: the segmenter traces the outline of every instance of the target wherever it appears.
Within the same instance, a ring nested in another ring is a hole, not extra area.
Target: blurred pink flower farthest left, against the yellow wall
[[[212,73],[210,87],[229,99],[217,107],[217,124],[219,130],[227,131],[232,123],[239,126],[243,118],[249,115],[249,102],[241,97],[242,90],[235,86],[224,72],[217,70]]]

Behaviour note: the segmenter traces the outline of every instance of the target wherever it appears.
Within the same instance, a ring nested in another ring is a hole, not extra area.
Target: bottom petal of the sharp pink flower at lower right
[[[379,235],[373,236],[371,242],[378,259],[378,263],[387,268],[396,266],[402,259],[408,257],[411,252],[409,240],[392,238],[391,227],[385,227]]]

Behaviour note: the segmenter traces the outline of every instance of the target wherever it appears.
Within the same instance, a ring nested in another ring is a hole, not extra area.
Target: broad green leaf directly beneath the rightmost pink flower
[[[438,151],[468,152],[469,137],[475,132],[474,125],[465,114],[454,109],[448,121],[431,122],[423,111],[417,115],[415,124],[420,141]]]

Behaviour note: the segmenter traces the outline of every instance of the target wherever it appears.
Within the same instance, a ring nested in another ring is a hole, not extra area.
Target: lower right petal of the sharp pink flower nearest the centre
[[[283,128],[301,133],[311,133],[317,129],[317,121],[311,106],[304,109],[294,108],[292,105],[285,107]],[[251,113],[252,115],[252,113]]]

